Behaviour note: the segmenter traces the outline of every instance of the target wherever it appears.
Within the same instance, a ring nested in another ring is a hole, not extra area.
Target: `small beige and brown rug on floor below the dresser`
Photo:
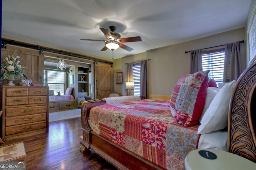
[[[26,156],[23,141],[0,146],[0,162],[17,160]]]

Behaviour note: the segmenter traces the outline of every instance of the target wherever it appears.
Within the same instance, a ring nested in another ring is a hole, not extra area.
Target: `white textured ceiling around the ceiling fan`
[[[112,59],[100,27],[133,48],[114,59],[245,27],[250,0],[2,0],[2,35]]]

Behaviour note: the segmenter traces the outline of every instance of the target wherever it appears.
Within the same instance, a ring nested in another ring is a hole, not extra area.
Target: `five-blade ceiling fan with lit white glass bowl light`
[[[120,38],[121,35],[119,33],[116,33],[116,27],[110,26],[110,31],[105,28],[100,28],[100,30],[104,33],[105,37],[108,40],[97,40],[97,39],[80,39],[80,40],[86,40],[86,41],[104,41],[105,47],[101,49],[101,51],[106,51],[107,49],[110,50],[116,50],[118,47],[121,47],[122,49],[125,49],[127,51],[132,51],[133,49],[131,47],[128,47],[127,45],[124,45],[123,43],[127,42],[136,42],[136,41],[142,41],[140,36],[138,37],[128,37],[128,38]]]

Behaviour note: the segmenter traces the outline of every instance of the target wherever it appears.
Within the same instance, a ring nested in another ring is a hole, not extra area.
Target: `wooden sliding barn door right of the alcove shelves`
[[[113,91],[113,67],[110,64],[95,64],[96,99],[106,98]]]

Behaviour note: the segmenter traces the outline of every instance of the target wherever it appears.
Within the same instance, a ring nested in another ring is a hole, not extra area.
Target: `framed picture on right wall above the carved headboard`
[[[251,65],[256,60],[256,4],[252,12],[252,18],[247,30],[247,59],[248,65]]]

